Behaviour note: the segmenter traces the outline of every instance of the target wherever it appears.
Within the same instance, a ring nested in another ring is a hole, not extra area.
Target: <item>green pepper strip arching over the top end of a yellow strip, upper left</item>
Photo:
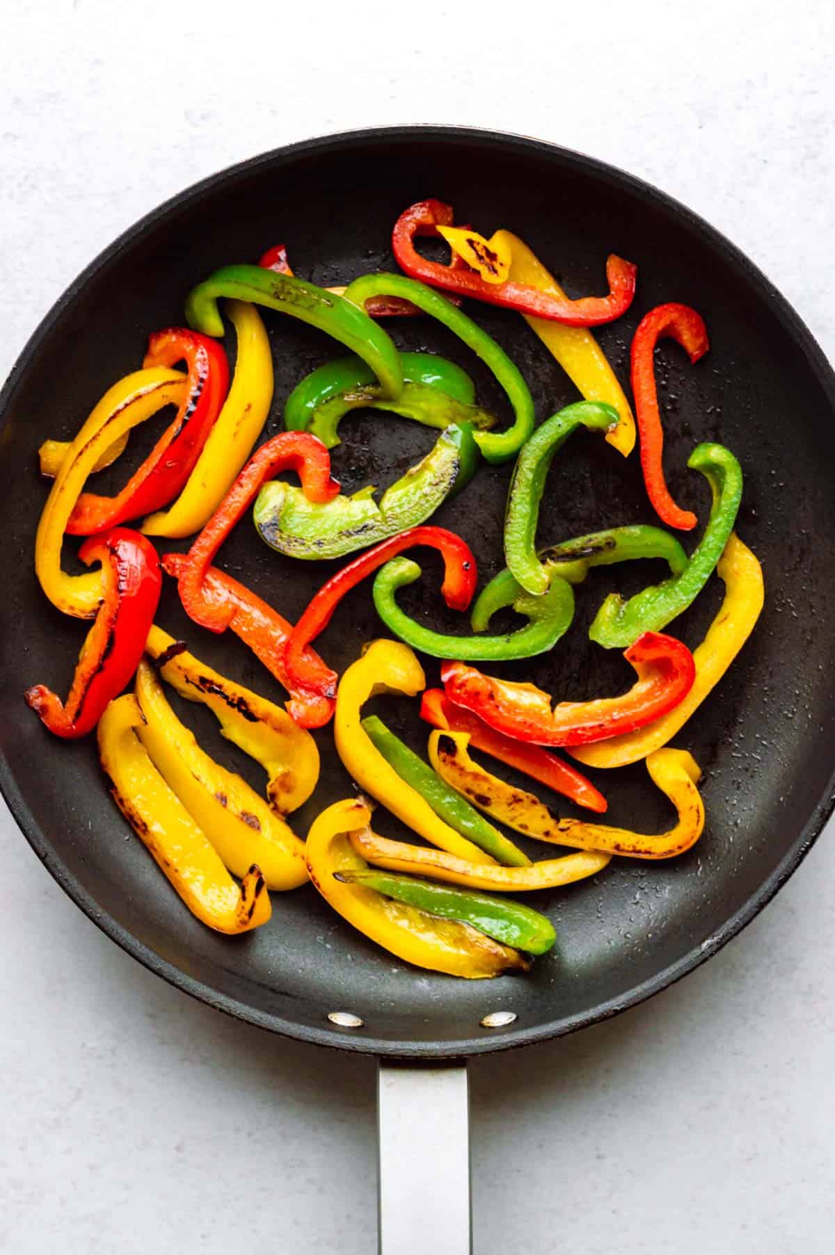
[[[320,328],[368,363],[384,397],[399,397],[403,389],[401,355],[379,324],[353,301],[262,266],[221,266],[186,297],[188,325],[217,339],[224,336],[224,320],[217,309],[220,296],[266,305]]]

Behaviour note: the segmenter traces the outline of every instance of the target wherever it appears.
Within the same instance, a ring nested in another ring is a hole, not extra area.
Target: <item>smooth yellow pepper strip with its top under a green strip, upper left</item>
[[[168,510],[146,518],[146,536],[198,532],[232,487],[270,413],[272,354],[264,323],[249,301],[229,301],[226,312],[237,335],[232,385],[186,487]]]

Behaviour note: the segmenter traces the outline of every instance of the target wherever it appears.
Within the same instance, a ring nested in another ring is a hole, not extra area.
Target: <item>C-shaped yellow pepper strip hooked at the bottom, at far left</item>
[[[38,525],[35,572],[51,604],[65,615],[94,619],[102,600],[100,569],[84,575],[62,570],[64,532],[87,477],[102,453],[163,405],[180,405],[186,376],[166,366],[134,370],[104,393],[69,447]]]

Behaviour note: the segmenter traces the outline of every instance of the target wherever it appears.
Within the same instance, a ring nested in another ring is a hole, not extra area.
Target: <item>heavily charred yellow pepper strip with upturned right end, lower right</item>
[[[628,858],[673,858],[696,845],[704,828],[704,804],[697,788],[702,773],[684,749],[659,749],[647,759],[649,778],[678,811],[674,827],[660,836],[648,836],[586,820],[560,820],[534,793],[514,788],[473,763],[467,753],[468,739],[466,732],[433,732],[432,766],[480,811],[526,837]]]

